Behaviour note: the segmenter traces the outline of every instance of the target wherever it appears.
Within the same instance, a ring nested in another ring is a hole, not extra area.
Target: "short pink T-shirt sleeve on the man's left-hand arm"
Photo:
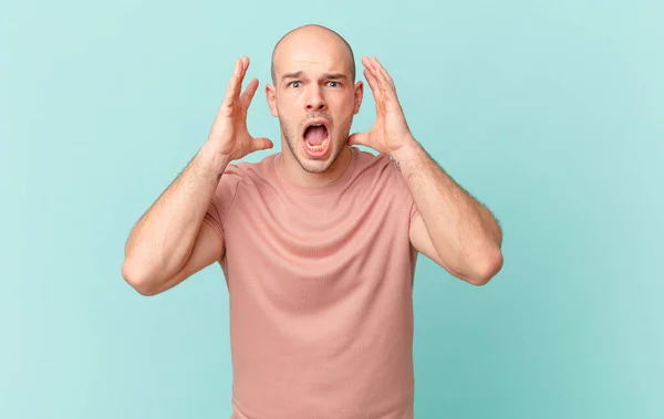
[[[226,166],[203,221],[224,241],[224,222],[232,208],[242,176],[237,165]]]

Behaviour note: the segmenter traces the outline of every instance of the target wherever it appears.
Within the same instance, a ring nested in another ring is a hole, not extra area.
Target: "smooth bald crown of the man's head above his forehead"
[[[332,59],[344,61],[350,66],[352,81],[355,81],[355,56],[346,40],[329,28],[307,24],[291,30],[274,45],[271,63],[272,83],[277,84],[277,73],[284,61],[293,59],[297,54],[307,55],[308,52],[324,53]]]

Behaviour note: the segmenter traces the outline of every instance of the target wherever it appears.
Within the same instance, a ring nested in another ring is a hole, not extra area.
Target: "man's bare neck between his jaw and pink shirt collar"
[[[339,157],[328,170],[311,172],[304,170],[298,159],[290,153],[290,148],[287,145],[284,146],[281,148],[283,151],[278,169],[286,180],[298,187],[320,188],[333,184],[343,176],[351,163],[351,147],[344,145]]]

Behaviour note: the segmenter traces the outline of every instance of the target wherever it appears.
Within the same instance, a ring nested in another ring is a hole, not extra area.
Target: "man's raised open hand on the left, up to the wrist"
[[[240,95],[242,80],[245,80],[248,67],[248,57],[236,60],[226,96],[217,111],[208,138],[212,148],[229,157],[230,160],[240,159],[250,153],[274,146],[266,137],[252,137],[247,129],[247,109],[258,88],[258,80],[252,78]]]

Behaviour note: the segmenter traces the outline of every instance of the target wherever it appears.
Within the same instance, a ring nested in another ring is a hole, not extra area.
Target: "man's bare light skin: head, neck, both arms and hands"
[[[301,186],[322,186],[343,174],[349,146],[388,154],[400,164],[419,210],[411,226],[414,248],[459,279],[487,283],[502,265],[500,228],[415,140],[381,63],[362,59],[376,121],[369,132],[349,135],[363,84],[353,83],[343,43],[324,30],[302,28],[284,38],[274,57],[277,77],[266,95],[282,127],[281,174]],[[224,241],[203,222],[221,174],[231,161],[273,147],[247,129],[247,111],[258,88],[253,78],[241,92],[248,67],[248,57],[236,61],[207,142],[132,229],[122,274],[143,295],[169,290],[221,258]],[[329,150],[321,157],[302,147],[303,127],[312,117],[329,126]]]

